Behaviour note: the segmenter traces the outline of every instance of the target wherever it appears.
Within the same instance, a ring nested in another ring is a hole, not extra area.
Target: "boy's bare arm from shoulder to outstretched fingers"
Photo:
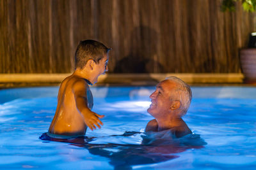
[[[79,80],[74,83],[72,92],[74,93],[77,110],[83,116],[84,123],[93,131],[93,129],[96,129],[95,125],[99,128],[100,125],[103,125],[99,118],[103,118],[104,115],[98,115],[88,108],[87,88],[86,82]]]

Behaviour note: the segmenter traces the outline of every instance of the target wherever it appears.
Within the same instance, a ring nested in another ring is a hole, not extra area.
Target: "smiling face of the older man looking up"
[[[163,117],[170,112],[172,101],[170,96],[173,95],[175,83],[169,80],[161,81],[156,85],[156,90],[150,95],[151,104],[148,113],[155,118]]]

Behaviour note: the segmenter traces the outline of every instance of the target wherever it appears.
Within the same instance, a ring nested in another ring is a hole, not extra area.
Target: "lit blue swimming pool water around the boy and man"
[[[207,143],[202,147],[141,145],[153,91],[92,87],[104,126],[87,131],[88,145],[76,145],[39,139],[58,87],[0,90],[0,169],[255,169],[255,87],[192,87],[184,120]]]

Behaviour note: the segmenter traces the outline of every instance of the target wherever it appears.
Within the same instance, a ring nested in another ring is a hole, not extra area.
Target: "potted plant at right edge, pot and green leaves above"
[[[237,1],[241,1],[244,11],[254,12],[256,0],[223,0],[221,10],[234,11]],[[244,83],[256,84],[256,32],[250,34],[248,47],[239,52]]]

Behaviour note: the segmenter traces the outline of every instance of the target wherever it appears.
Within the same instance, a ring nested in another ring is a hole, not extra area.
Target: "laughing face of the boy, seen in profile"
[[[95,71],[95,78],[93,79],[93,84],[97,83],[98,77],[101,74],[105,74],[106,71],[108,71],[108,54],[104,55],[102,59],[99,60],[99,63],[95,63],[94,67]]]

